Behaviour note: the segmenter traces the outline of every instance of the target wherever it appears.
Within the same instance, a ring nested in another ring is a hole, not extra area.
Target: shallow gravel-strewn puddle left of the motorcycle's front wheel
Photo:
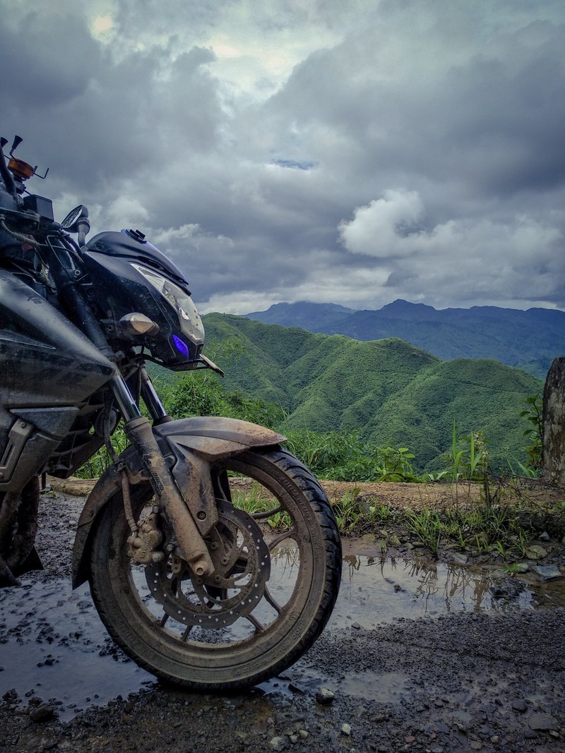
[[[62,719],[155,681],[115,649],[88,586],[66,579],[0,590],[0,697],[53,700]],[[8,635],[6,635],[6,629]]]

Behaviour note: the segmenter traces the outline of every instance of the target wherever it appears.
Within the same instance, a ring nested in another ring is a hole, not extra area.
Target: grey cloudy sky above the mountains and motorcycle
[[[0,0],[32,192],[200,309],[565,309],[563,0]]]

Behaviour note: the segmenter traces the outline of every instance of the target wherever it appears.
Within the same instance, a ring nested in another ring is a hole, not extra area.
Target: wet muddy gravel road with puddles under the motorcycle
[[[302,660],[247,694],[191,694],[127,660],[70,590],[83,502],[44,495],[45,569],[0,592],[0,751],[565,751],[565,578],[348,543]]]

